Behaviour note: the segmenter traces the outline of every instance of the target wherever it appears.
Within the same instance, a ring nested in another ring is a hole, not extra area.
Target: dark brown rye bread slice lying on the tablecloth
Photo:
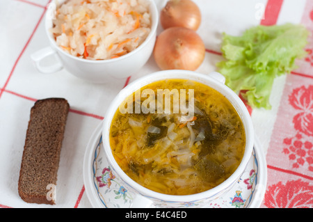
[[[47,194],[56,186],[69,109],[63,98],[38,100],[31,108],[18,184],[19,196],[27,203],[55,204]]]

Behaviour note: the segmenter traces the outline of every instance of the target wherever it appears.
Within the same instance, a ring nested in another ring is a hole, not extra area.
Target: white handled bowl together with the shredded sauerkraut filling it
[[[92,82],[135,74],[150,58],[158,24],[153,0],[52,1],[46,16],[51,47],[33,54],[40,72],[65,68]],[[49,67],[42,58],[56,54]]]

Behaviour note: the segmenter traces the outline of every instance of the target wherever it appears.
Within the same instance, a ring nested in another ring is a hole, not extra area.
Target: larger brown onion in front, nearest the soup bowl
[[[154,60],[161,70],[196,70],[204,60],[205,47],[191,29],[172,27],[158,36]]]

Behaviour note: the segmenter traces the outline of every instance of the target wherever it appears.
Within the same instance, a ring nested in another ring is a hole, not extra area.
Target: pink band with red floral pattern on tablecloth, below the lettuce
[[[312,78],[287,76],[273,132],[262,207],[313,207]]]

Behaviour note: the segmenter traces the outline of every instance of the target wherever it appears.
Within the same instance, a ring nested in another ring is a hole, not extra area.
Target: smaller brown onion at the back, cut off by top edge
[[[163,29],[179,26],[196,31],[201,23],[200,9],[190,0],[170,0],[161,10],[160,22]]]

